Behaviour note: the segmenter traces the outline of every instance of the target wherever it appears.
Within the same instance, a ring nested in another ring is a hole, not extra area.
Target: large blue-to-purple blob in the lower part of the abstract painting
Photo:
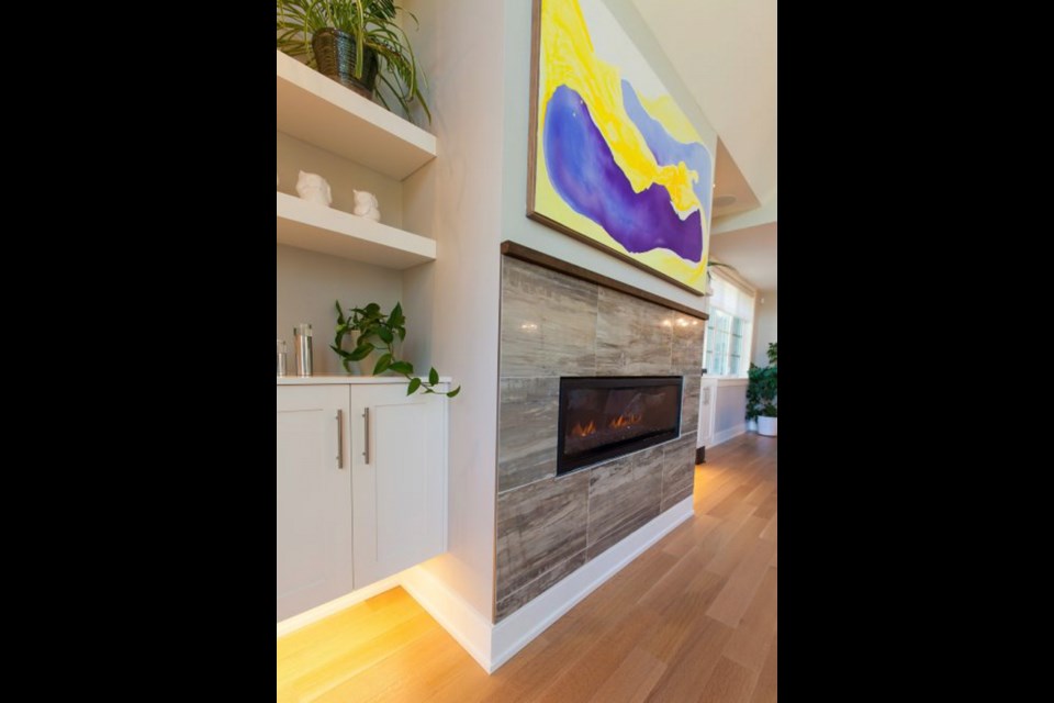
[[[542,133],[546,168],[557,193],[575,212],[597,223],[627,252],[665,248],[683,259],[703,258],[698,210],[681,220],[669,191],[653,183],[637,193],[615,163],[585,101],[567,86],[546,105]]]

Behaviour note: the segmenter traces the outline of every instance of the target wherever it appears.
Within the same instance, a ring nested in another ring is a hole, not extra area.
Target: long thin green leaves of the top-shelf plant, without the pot
[[[326,27],[340,30],[355,36],[355,77],[362,78],[363,53],[377,54],[378,81],[399,102],[406,116],[416,101],[431,122],[428,103],[421,94],[424,75],[410,37],[395,22],[399,12],[405,12],[415,26],[416,15],[395,4],[394,0],[277,0],[278,48],[290,56],[306,56],[307,65],[317,68],[311,38]],[[374,91],[378,101],[389,108],[384,93]]]

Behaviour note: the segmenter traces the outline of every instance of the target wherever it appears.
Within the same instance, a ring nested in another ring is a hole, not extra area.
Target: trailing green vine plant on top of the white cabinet
[[[373,376],[379,376],[385,371],[393,371],[405,376],[410,380],[406,388],[406,394],[412,395],[418,390],[425,393],[445,394],[447,398],[453,398],[461,392],[458,386],[452,391],[442,393],[435,389],[439,383],[439,372],[436,367],[428,371],[428,380],[422,380],[414,376],[414,365],[410,361],[403,361],[396,357],[396,339],[401,343],[406,338],[406,317],[403,315],[403,306],[395,303],[392,312],[386,315],[381,312],[381,306],[377,303],[370,303],[366,308],[351,308],[348,312],[350,317],[344,316],[344,310],[340,308],[340,301],[335,301],[337,308],[337,328],[336,336],[329,348],[337,353],[344,365],[344,370],[351,372],[351,362],[361,361],[373,352],[380,349],[383,352],[373,365]],[[340,348],[344,337],[354,332],[358,337],[354,339],[355,349],[346,352]]]

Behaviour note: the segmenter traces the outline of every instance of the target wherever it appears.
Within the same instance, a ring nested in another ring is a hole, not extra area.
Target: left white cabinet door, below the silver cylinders
[[[348,593],[347,386],[278,387],[278,620]]]

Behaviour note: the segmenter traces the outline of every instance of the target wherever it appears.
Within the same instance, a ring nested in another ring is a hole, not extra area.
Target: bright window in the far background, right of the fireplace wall
[[[706,321],[706,358],[709,376],[747,376],[753,331],[754,293],[716,269],[710,271],[709,315]]]

